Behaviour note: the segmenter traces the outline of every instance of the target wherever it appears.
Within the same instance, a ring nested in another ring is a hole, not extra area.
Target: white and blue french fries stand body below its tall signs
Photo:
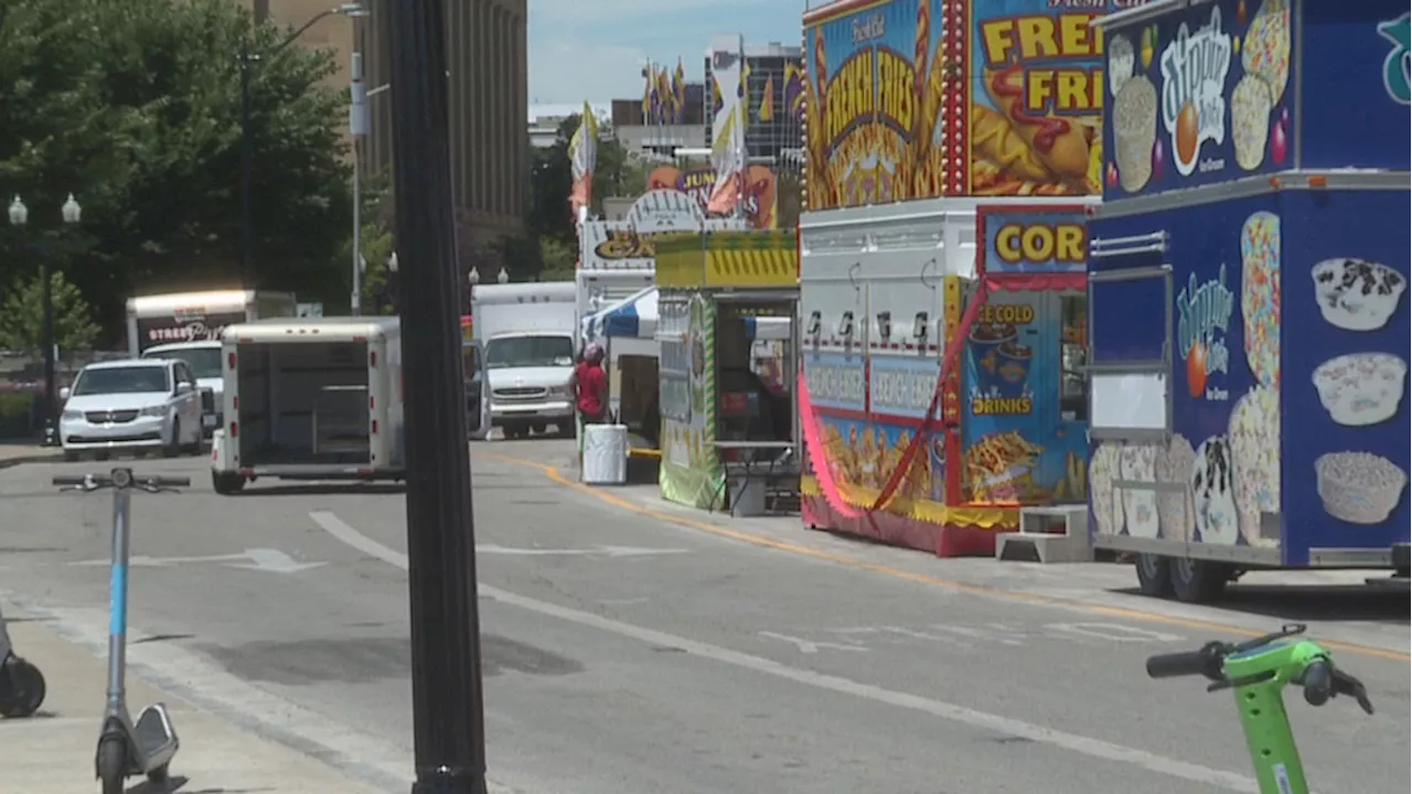
[[[993,554],[1021,507],[1083,503],[1083,222],[1029,199],[805,218],[808,526]]]

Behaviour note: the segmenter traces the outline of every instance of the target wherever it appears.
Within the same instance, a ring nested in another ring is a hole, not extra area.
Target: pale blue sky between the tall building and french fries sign
[[[822,0],[810,0],[819,6]],[[642,96],[647,61],[703,78],[710,37],[799,45],[805,0],[530,0],[530,105]]]

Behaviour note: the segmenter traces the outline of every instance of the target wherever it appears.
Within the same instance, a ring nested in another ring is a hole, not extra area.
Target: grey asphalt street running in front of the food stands
[[[1149,681],[1144,658],[1275,629],[1267,613],[1285,605],[1341,641],[1378,706],[1289,694],[1315,788],[1405,790],[1402,598],[1255,588],[1244,612],[1155,605],[1114,567],[938,561],[784,521],[685,526],[548,478],[569,442],[472,449],[489,759],[513,790],[1257,791],[1231,697]],[[261,482],[219,497],[201,458],[137,466],[196,486],[134,497],[134,670],[404,788],[401,493]],[[0,596],[96,653],[112,502],[48,485],[92,468],[0,472]]]

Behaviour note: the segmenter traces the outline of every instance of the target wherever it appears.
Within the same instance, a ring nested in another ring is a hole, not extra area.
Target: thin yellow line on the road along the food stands
[[[637,504],[634,502],[623,499],[621,496],[617,496],[617,494],[610,493],[607,490],[602,490],[602,489],[596,489],[596,487],[589,487],[589,486],[586,486],[586,485],[583,485],[580,482],[575,482],[575,480],[563,476],[563,473],[559,469],[556,469],[556,468],[554,468],[554,466],[551,466],[548,463],[539,463],[537,461],[525,461],[522,458],[511,458],[508,455],[500,455],[500,454],[496,454],[496,452],[477,452],[477,455],[484,456],[484,458],[490,458],[493,461],[501,461],[504,463],[513,463],[515,466],[525,466],[525,468],[530,468],[530,469],[537,469],[544,476],[546,476],[552,482],[555,482],[556,485],[561,485],[563,487],[569,487],[569,489],[573,489],[573,490],[579,490],[579,492],[587,493],[587,494],[593,496],[594,499],[599,499],[600,502],[606,502],[609,504],[613,504],[614,507],[621,507],[623,510],[627,510],[630,513],[637,513],[638,516],[647,516],[647,517],[657,519],[657,520],[661,520],[661,521],[669,521],[669,523],[681,526],[681,527],[689,527],[689,528],[699,530],[699,531],[703,531],[703,533],[710,533],[710,534],[717,535],[717,537],[726,537],[726,538],[737,540],[737,541],[741,541],[741,543],[748,543],[748,544],[753,544],[753,545],[772,548],[775,551],[784,551],[784,552],[795,554],[795,555],[799,555],[799,557],[809,557],[809,558],[813,558],[813,559],[822,559],[822,561],[826,561],[826,562],[833,562],[833,564],[837,564],[837,565],[844,565],[844,567],[854,568],[854,569],[858,569],[858,571],[870,571],[873,574],[880,574],[880,575],[890,576],[890,578],[894,578],[894,579],[904,579],[904,581],[908,581],[908,582],[916,582],[916,583],[929,585],[929,586],[933,586],[933,588],[945,588],[947,591],[962,592],[962,593],[969,593],[969,595],[976,595],[976,596],[983,596],[983,598],[1000,599],[1000,600],[1015,602],[1015,603],[1029,603],[1029,605],[1036,605],[1036,606],[1073,609],[1073,610],[1087,612],[1090,615],[1103,615],[1103,616],[1107,616],[1107,617],[1121,617],[1121,619],[1127,619],[1127,620],[1135,620],[1135,622],[1139,622],[1139,623],[1161,623],[1161,624],[1165,624],[1165,626],[1180,626],[1180,627],[1185,627],[1185,629],[1195,629],[1195,630],[1202,630],[1202,632],[1216,632],[1216,633],[1224,633],[1224,634],[1236,634],[1236,636],[1241,636],[1241,637],[1258,637],[1258,636],[1264,634],[1264,632],[1255,632],[1255,630],[1251,630],[1251,629],[1245,629],[1243,626],[1231,626],[1231,624],[1227,624],[1227,623],[1217,623],[1214,620],[1200,620],[1200,619],[1195,619],[1195,617],[1179,617],[1179,616],[1175,616],[1175,615],[1162,615],[1162,613],[1158,613],[1158,612],[1148,612],[1148,610],[1144,610],[1144,609],[1132,609],[1132,608],[1125,608],[1125,606],[1101,606],[1101,605],[1084,603],[1084,602],[1080,602],[1080,600],[1070,600],[1070,599],[1056,598],[1056,596],[1025,593],[1025,592],[1018,592],[1018,591],[1007,591],[1007,589],[1001,589],[1001,588],[995,588],[995,586],[990,586],[990,585],[977,585],[977,583],[973,583],[973,582],[962,582],[962,581],[957,581],[957,579],[946,579],[946,578],[942,578],[942,576],[932,576],[932,575],[928,575],[928,574],[918,574],[915,571],[905,571],[902,568],[894,568],[891,565],[882,565],[882,564],[878,564],[878,562],[867,562],[864,559],[858,559],[856,557],[849,557],[849,555],[844,555],[844,554],[834,554],[832,551],[823,551],[820,548],[812,548],[812,547],[801,545],[801,544],[796,544],[796,543],[789,543],[789,541],[784,541],[784,540],[775,540],[775,538],[770,538],[770,537],[765,537],[765,535],[758,535],[758,534],[754,534],[754,533],[747,533],[747,531],[736,530],[736,528],[731,528],[731,527],[723,527],[720,524],[712,524],[709,521],[698,521],[696,519],[692,519],[689,516],[681,516],[681,514],[676,514],[676,513],[668,513],[665,510],[654,510],[652,507],[647,507],[645,504]],[[1324,646],[1329,650],[1347,651],[1347,653],[1353,653],[1353,654],[1361,654],[1361,656],[1368,656],[1368,657],[1375,657],[1375,658],[1385,658],[1385,660],[1392,660],[1392,661],[1412,661],[1412,653],[1395,651],[1395,650],[1389,650],[1389,648],[1378,648],[1378,647],[1372,647],[1372,646],[1360,646],[1360,644],[1354,644],[1354,643],[1341,643],[1341,641],[1337,641],[1337,640],[1319,640],[1319,644]]]

